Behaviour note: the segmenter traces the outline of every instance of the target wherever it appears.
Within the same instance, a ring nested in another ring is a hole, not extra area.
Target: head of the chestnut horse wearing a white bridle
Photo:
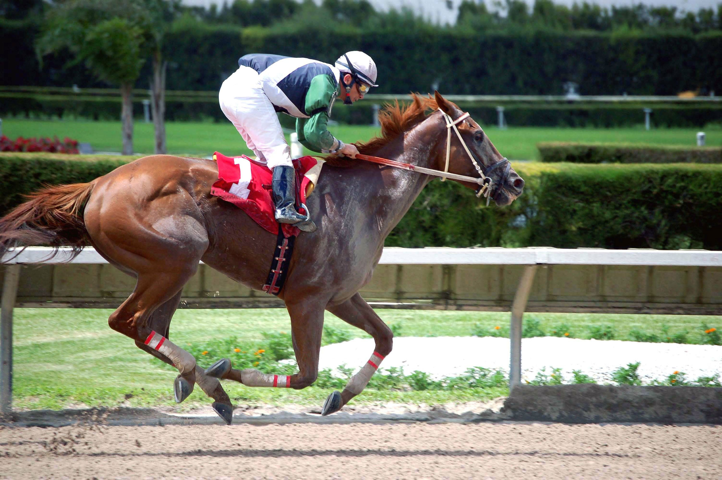
[[[443,134],[440,136],[436,150],[438,170],[474,178],[486,177],[489,185],[488,195],[497,205],[504,206],[513,202],[521,195],[524,180],[514,171],[509,161],[497,151],[477,122],[453,102],[445,100],[439,92],[435,92],[434,97],[441,110],[439,119],[443,125]],[[452,123],[454,125],[451,125]],[[454,131],[454,127],[461,134],[461,139]],[[461,143],[462,141],[464,144]],[[479,185],[475,183],[464,181],[460,183],[486,195],[484,186],[479,191]]]

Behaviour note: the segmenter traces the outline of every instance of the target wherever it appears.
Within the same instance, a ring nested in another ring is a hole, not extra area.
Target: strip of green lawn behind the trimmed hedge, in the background
[[[14,139],[17,136],[69,136],[78,141],[90,142],[97,152],[120,152],[121,123],[118,121],[31,121],[7,118],[3,133]],[[166,123],[168,152],[207,156],[214,151],[224,154],[248,154],[243,139],[229,122],[169,122]],[[331,133],[344,141],[367,141],[378,135],[373,126],[331,126]],[[487,127],[486,133],[495,147],[511,160],[539,158],[536,144],[540,141],[614,142],[652,145],[694,146],[697,128],[537,128],[514,127],[499,130]],[[705,130],[707,144],[722,145],[722,128]],[[135,123],[134,147],[136,152],[153,152],[152,123]],[[307,153],[310,153],[307,151]]]

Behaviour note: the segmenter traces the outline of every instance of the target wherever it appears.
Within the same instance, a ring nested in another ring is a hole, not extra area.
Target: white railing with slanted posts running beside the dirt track
[[[12,406],[12,310],[17,297],[20,266],[35,263],[108,263],[93,248],[85,248],[71,260],[63,249],[51,257],[52,249],[30,247],[7,263],[0,315],[0,411]],[[722,251],[710,250],[605,250],[604,248],[384,248],[380,264],[391,265],[524,265],[516,289],[510,319],[509,385],[521,382],[522,318],[531,284],[539,265],[627,265],[627,266],[722,266]]]

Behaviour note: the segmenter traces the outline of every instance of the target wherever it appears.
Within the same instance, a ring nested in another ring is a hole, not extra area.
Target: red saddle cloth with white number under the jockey
[[[245,155],[226,157],[215,152],[213,160],[218,164],[218,180],[211,187],[211,194],[238,206],[257,224],[271,233],[278,233],[278,222],[274,217],[271,199],[271,170],[263,163]],[[296,198],[305,204],[318,182],[323,160],[316,157],[300,157],[293,160],[296,170]],[[300,213],[305,214],[303,209]],[[291,224],[281,224],[285,237],[298,235],[300,230]]]

